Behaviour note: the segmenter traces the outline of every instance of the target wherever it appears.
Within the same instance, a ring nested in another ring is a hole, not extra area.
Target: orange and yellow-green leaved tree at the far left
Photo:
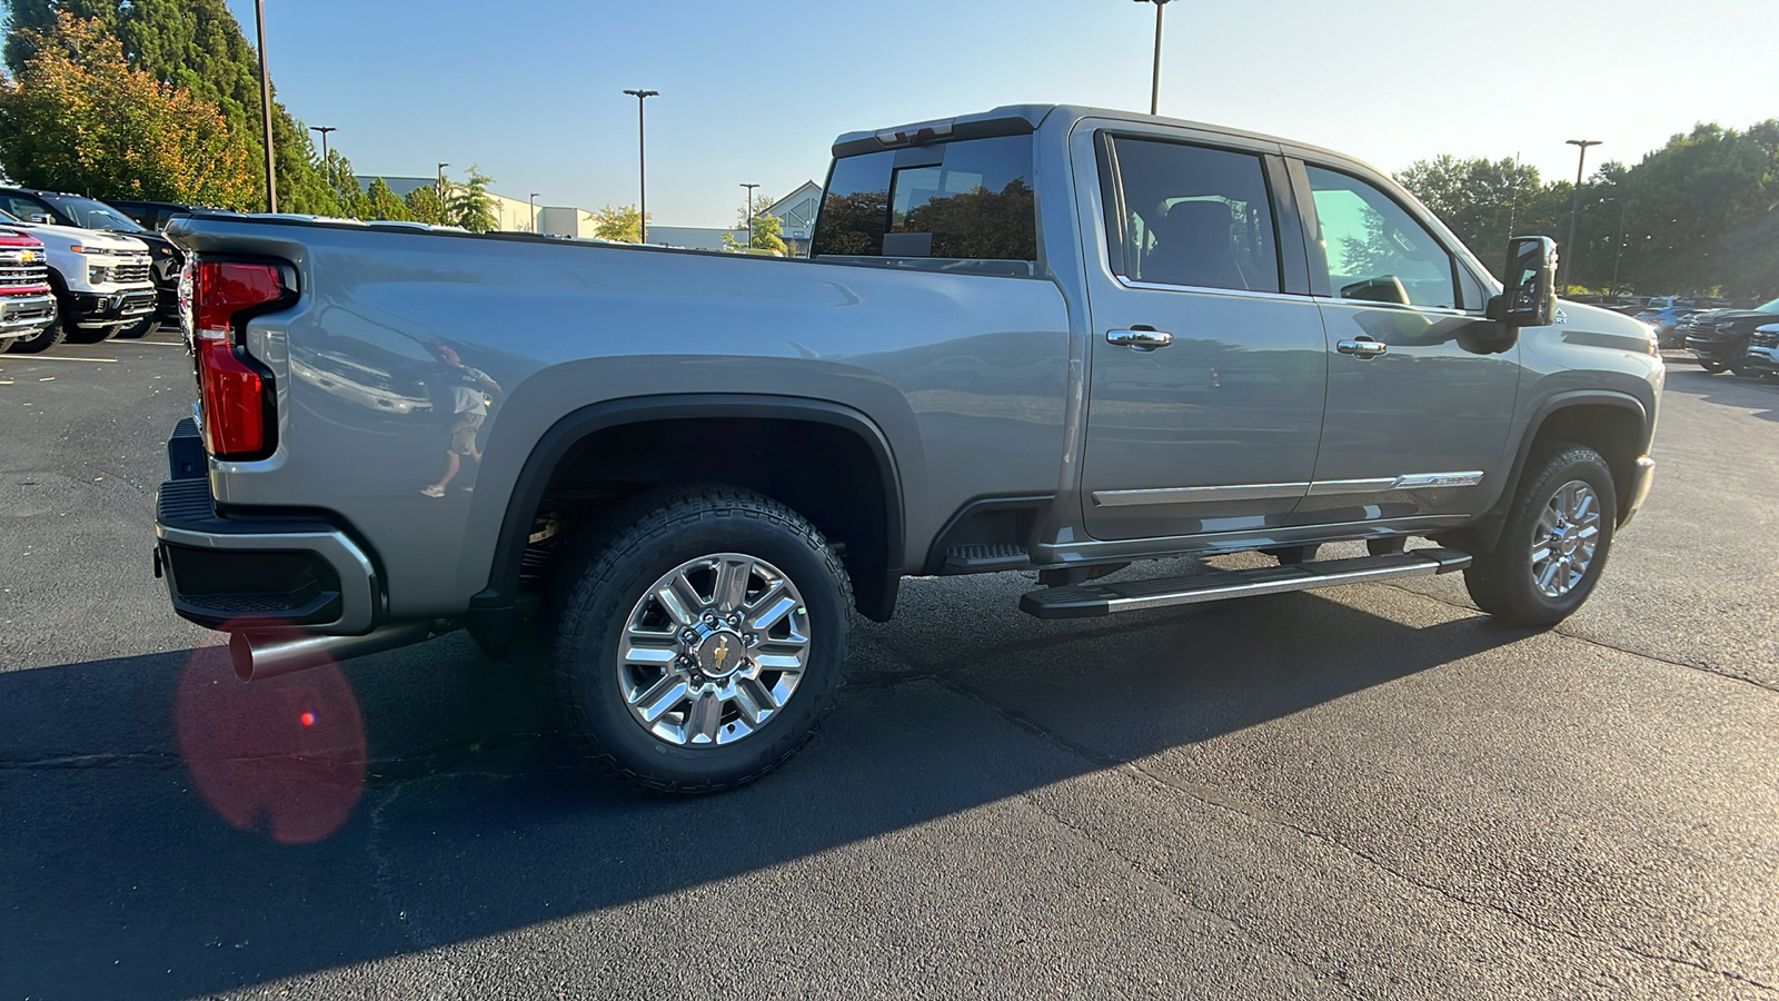
[[[247,208],[256,178],[217,109],[130,69],[96,20],[27,28],[18,78],[0,87],[0,166],[32,187]]]

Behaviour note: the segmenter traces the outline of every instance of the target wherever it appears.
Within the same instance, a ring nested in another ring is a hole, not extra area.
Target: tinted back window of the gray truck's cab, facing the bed
[[[811,253],[1037,260],[1032,137],[962,139],[836,160]]]

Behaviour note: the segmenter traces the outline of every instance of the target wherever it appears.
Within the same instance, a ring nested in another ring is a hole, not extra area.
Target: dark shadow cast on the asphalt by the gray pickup
[[[523,657],[450,636],[354,661],[365,787],[308,844],[224,823],[180,757],[181,673],[221,671],[219,650],[0,673],[0,994],[201,996],[557,921],[640,953],[658,930],[601,912],[785,878],[772,869],[1528,636],[1482,618],[1414,629],[1316,595],[1055,623],[977,591],[943,614],[964,584],[911,584],[906,618],[863,631],[822,736],[699,800],[582,766]],[[799,887],[804,921],[824,899],[847,919],[845,894]],[[717,924],[770,919],[760,907]]]

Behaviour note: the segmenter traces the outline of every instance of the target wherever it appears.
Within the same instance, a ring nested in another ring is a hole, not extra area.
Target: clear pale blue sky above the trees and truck
[[[229,0],[253,39],[253,2]],[[635,201],[720,226],[822,180],[834,135],[1000,103],[1146,110],[1155,7],[1131,0],[265,0],[272,78],[359,173],[471,162],[544,205]],[[1695,121],[1779,116],[1772,0],[1172,0],[1162,114],[1331,146],[1573,176],[1564,139],[1635,162]]]

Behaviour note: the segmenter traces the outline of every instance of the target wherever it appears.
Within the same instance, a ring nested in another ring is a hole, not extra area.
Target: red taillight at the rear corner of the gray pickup
[[[187,262],[192,269],[185,306],[197,356],[199,424],[205,447],[219,460],[258,460],[272,451],[272,374],[240,346],[246,310],[288,294],[276,264]]]

